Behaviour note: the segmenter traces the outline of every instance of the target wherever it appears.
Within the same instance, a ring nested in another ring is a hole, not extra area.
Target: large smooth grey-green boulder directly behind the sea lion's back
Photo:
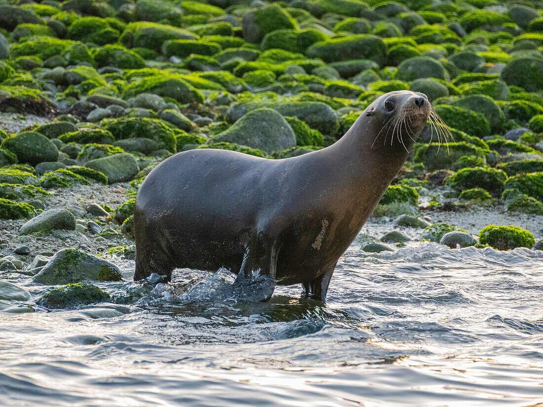
[[[213,140],[248,145],[270,154],[296,145],[291,126],[280,113],[266,107],[250,111]]]

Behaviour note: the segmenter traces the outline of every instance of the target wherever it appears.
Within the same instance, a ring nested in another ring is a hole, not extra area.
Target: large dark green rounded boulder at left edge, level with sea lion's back
[[[0,148],[11,151],[19,162],[29,163],[31,166],[59,158],[56,146],[47,137],[34,131],[24,131],[5,139]]]

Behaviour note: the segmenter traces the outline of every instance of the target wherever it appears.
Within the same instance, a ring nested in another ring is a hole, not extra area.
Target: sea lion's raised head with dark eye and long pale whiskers
[[[371,145],[396,146],[408,150],[432,116],[432,106],[424,93],[395,91],[371,103],[362,113],[372,126]]]

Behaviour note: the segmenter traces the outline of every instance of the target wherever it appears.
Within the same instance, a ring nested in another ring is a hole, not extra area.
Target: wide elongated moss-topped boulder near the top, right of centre
[[[369,59],[384,66],[387,46],[383,40],[371,34],[356,34],[314,43],[306,50],[308,58],[320,58],[325,62]]]

